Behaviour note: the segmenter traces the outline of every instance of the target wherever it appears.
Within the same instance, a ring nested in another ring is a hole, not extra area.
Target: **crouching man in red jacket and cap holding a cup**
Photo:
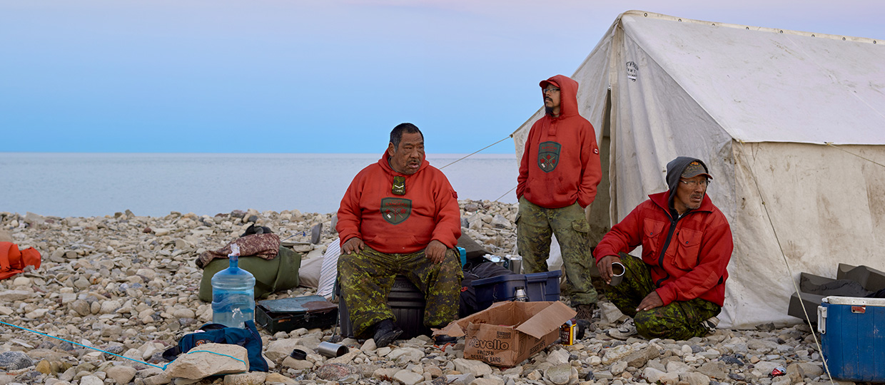
[[[711,179],[700,159],[673,159],[666,166],[670,189],[650,195],[596,245],[605,282],[612,282],[612,264],[626,271],[606,295],[633,318],[610,336],[688,340],[715,331],[734,243],[725,215],[706,195]],[[640,245],[642,259],[626,254]]]

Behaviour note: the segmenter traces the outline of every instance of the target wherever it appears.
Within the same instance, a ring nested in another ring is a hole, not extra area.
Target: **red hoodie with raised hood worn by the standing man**
[[[587,207],[603,175],[596,131],[578,114],[577,81],[556,75],[546,82],[559,86],[559,116],[544,115],[528,132],[516,196],[549,209],[575,201]]]

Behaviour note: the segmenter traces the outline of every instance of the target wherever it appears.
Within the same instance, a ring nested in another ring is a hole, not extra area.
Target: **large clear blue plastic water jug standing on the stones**
[[[212,322],[245,327],[255,319],[255,276],[239,265],[240,246],[231,244],[230,266],[212,276]]]

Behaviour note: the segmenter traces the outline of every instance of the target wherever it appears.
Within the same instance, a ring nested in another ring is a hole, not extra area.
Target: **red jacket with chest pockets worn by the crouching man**
[[[643,261],[664,304],[702,298],[721,306],[734,249],[731,227],[706,195],[699,208],[674,220],[667,196],[669,192],[650,195],[612,227],[596,245],[596,262],[642,245]]]

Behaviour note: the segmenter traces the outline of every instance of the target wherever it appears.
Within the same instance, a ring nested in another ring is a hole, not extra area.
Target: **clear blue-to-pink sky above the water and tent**
[[[881,1],[0,0],[3,151],[469,153],[634,9],[885,39]]]

